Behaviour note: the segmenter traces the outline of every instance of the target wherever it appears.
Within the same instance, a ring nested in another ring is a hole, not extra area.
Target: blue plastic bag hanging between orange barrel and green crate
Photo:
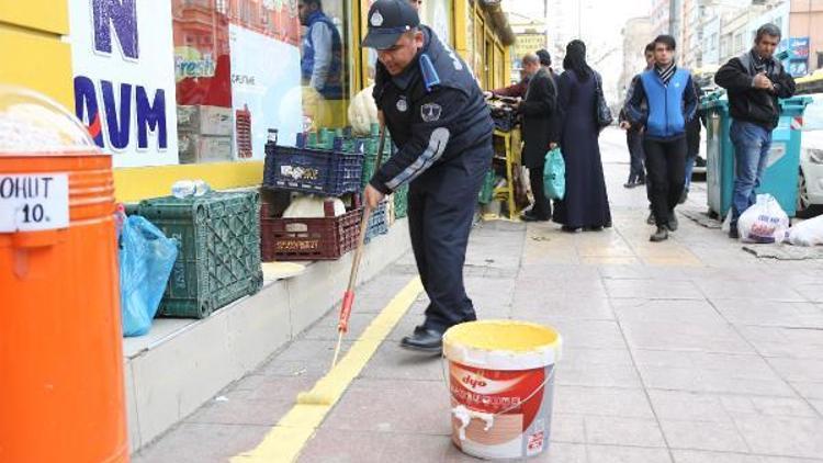
[[[139,215],[123,222],[120,234],[120,301],[123,335],[143,336],[151,328],[171,268],[178,242]]]

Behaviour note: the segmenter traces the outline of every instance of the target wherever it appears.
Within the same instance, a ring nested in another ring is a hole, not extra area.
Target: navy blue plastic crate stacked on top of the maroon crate
[[[360,190],[361,153],[266,145],[263,185],[270,189],[341,196]]]

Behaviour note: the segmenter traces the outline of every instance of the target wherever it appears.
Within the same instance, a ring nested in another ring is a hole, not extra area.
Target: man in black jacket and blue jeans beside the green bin
[[[737,238],[741,214],[755,203],[755,190],[768,163],[771,131],[780,118],[778,98],[794,94],[794,80],[774,56],[780,36],[776,25],[760,26],[754,47],[732,58],[714,75],[714,82],[729,91],[732,116],[730,137],[736,161],[729,232],[732,238]]]

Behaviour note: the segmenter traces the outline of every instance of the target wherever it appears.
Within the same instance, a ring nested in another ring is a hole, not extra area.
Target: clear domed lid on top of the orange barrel
[[[103,155],[83,124],[49,98],[0,84],[0,157]]]

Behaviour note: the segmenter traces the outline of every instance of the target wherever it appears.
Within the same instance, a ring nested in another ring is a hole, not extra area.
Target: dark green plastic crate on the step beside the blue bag
[[[157,197],[136,213],[181,244],[159,316],[204,318],[262,287],[258,192]]]

